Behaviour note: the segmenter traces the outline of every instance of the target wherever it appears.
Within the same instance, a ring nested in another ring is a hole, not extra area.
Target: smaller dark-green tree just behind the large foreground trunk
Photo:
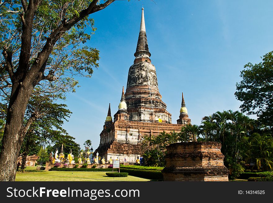
[[[36,154],[37,146],[42,146],[42,149],[50,142],[60,140],[62,136],[67,135],[65,129],[62,128],[64,120],[67,120],[72,113],[65,104],[56,104],[50,97],[33,96],[29,100],[26,109],[25,120],[31,116],[34,109],[40,108],[39,116],[30,125],[23,144],[20,149],[22,155],[21,170],[24,170],[25,160],[27,155]],[[70,137],[70,136],[69,136]],[[44,157],[48,156],[45,150],[43,155],[39,156],[42,161],[47,161]]]

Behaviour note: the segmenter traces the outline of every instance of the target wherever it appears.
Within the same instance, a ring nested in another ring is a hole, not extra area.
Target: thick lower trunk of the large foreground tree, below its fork
[[[32,87],[19,82],[12,85],[10,103],[0,154],[0,181],[15,181],[17,158],[25,136],[23,119]]]

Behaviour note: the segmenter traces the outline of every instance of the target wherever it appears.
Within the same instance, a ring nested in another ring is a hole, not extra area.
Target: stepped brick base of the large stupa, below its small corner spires
[[[124,158],[127,162],[134,163],[137,156],[142,156],[145,152],[142,149],[141,139],[143,136],[157,136],[160,132],[171,131],[180,132],[183,125],[171,124],[166,122],[134,122],[128,120],[119,120],[114,122],[107,129],[101,132],[101,144],[95,150],[99,156],[105,160],[117,158],[119,156],[121,162]],[[112,136],[114,135],[114,136]],[[111,137],[109,140],[107,137]],[[114,137],[114,139],[113,139]],[[104,139],[107,139],[105,141]]]

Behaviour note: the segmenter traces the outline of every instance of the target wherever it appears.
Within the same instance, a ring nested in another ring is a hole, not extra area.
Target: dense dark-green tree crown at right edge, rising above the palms
[[[273,51],[262,62],[248,63],[241,71],[242,81],[236,83],[235,96],[242,101],[240,108],[248,115],[255,114],[262,124],[273,127]]]

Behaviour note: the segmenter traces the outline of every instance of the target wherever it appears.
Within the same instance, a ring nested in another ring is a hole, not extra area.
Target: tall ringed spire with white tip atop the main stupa
[[[144,8],[142,8],[141,14],[141,23],[140,23],[140,30],[137,40],[137,49],[134,56],[137,58],[146,58],[146,61],[150,62],[151,53],[149,52],[147,36],[146,36],[146,29],[145,29],[145,20],[144,20]],[[141,60],[142,61],[142,60]],[[143,60],[145,61],[145,60]],[[137,60],[139,62],[139,60]]]

